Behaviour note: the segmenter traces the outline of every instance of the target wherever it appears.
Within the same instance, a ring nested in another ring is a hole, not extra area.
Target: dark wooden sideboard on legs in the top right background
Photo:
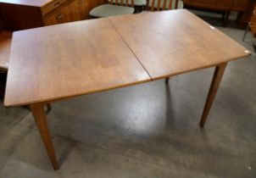
[[[224,12],[228,20],[231,11],[237,11],[238,27],[245,28],[253,12],[255,0],[183,0],[184,8]]]

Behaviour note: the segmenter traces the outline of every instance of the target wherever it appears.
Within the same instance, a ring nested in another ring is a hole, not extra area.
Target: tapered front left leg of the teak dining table
[[[58,161],[55,156],[53,142],[51,139],[51,136],[48,131],[47,126],[47,120],[46,120],[46,114],[44,110],[44,104],[31,104],[31,112],[34,116],[34,119],[36,121],[36,125],[38,128],[38,131],[41,134],[42,142],[44,143],[44,146],[47,149],[47,154],[49,156],[49,159],[51,160],[53,164],[53,169],[58,170]]]

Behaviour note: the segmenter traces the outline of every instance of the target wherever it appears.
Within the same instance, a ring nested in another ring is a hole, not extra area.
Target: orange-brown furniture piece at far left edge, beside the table
[[[0,70],[8,70],[12,33],[0,31]]]

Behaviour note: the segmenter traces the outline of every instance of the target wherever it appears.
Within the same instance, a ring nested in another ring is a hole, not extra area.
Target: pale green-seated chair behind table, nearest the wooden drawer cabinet
[[[135,0],[109,0],[109,3],[93,8],[89,14],[92,18],[134,14],[134,1]]]

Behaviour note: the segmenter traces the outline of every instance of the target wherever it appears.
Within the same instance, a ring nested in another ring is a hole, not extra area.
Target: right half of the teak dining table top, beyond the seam
[[[185,9],[110,19],[153,80],[250,54],[248,49]]]

